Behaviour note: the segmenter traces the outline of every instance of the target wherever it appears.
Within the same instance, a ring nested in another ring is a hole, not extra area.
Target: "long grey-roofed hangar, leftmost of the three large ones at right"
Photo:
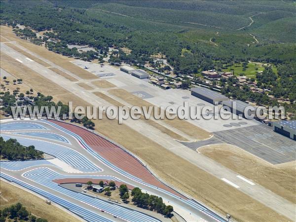
[[[229,100],[228,97],[223,96],[222,94],[215,92],[211,89],[204,87],[194,87],[191,88],[191,95],[198,97],[204,101],[207,101],[211,104],[218,105],[222,101]]]

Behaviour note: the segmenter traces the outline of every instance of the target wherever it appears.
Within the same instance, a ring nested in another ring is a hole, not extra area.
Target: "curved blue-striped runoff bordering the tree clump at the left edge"
[[[86,157],[81,155],[79,152],[75,151],[74,149],[58,145],[55,143],[49,143],[45,141],[35,140],[35,139],[28,139],[28,138],[21,138],[15,137],[12,135],[1,135],[4,140],[8,140],[10,138],[17,139],[17,141],[23,146],[35,146],[37,150],[42,152],[48,153],[52,156],[56,156],[58,159],[64,161],[65,163],[72,166],[74,169],[79,170],[83,173],[91,173],[91,172],[100,172],[98,166],[88,160]]]

